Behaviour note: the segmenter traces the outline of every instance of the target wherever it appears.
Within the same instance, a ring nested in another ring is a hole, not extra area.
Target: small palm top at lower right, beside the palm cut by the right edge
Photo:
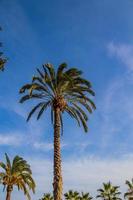
[[[99,195],[96,198],[101,198],[103,200],[121,200],[119,195],[119,186],[113,186],[111,182],[103,183],[103,188],[97,190]]]

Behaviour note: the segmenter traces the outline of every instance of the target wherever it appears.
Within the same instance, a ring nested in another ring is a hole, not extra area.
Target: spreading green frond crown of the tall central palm
[[[72,118],[76,119],[79,125],[83,125],[87,132],[88,117],[83,108],[89,113],[95,109],[95,104],[88,97],[94,96],[91,83],[81,77],[82,72],[76,68],[65,70],[67,65],[61,64],[57,70],[51,64],[43,65],[43,71],[38,71],[38,76],[34,76],[31,84],[26,84],[20,89],[20,93],[28,94],[20,100],[23,103],[29,99],[38,99],[40,102],[31,110],[27,120],[32,114],[38,111],[37,119],[43,112],[51,107],[51,120],[53,122],[54,109],[59,108],[60,120],[62,122],[62,113],[67,112]]]

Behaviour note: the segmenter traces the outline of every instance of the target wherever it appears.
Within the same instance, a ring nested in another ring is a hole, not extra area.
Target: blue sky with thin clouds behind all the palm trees
[[[64,118],[64,191],[95,195],[108,180],[126,190],[133,167],[132,10],[132,0],[0,0],[0,41],[9,58],[0,74],[0,157],[7,152],[29,161],[33,199],[52,191],[53,132],[48,112],[26,123],[32,104],[20,105],[18,91],[47,62],[78,67],[96,92],[88,134]]]

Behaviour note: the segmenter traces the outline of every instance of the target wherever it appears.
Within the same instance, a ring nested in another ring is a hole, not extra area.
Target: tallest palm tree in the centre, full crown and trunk
[[[38,111],[37,119],[40,119],[44,111],[51,108],[51,121],[54,125],[54,200],[62,198],[62,173],[61,173],[61,152],[60,132],[63,130],[63,113],[68,113],[79,125],[82,125],[87,132],[88,116],[83,110],[89,113],[95,109],[95,104],[89,98],[94,96],[91,83],[82,78],[82,72],[76,68],[66,70],[67,65],[62,63],[57,71],[53,65],[43,65],[42,71],[37,69],[38,75],[34,76],[30,84],[24,85],[20,93],[26,93],[20,103],[26,100],[36,99],[38,104],[31,110],[27,121],[34,112]]]

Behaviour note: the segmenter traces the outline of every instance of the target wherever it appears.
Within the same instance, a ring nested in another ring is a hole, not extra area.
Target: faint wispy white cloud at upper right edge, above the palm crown
[[[133,45],[110,42],[107,48],[112,56],[117,57],[129,70],[133,70]]]

